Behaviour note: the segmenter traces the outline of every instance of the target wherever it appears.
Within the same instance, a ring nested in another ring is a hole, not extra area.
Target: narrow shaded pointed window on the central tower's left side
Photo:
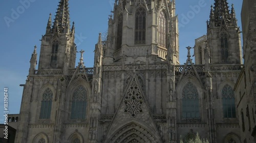
[[[123,34],[123,14],[120,13],[117,18],[117,34],[116,34],[116,50],[122,46],[122,34]]]

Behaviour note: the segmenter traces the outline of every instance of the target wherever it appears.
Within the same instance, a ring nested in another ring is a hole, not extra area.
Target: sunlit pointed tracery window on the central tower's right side
[[[166,48],[166,39],[167,39],[167,24],[166,24],[166,15],[163,11],[159,13],[158,19],[158,45],[160,47]]]

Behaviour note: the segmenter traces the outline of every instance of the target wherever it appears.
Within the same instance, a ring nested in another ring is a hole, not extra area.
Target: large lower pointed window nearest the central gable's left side
[[[71,119],[86,119],[87,91],[79,85],[72,97]]]

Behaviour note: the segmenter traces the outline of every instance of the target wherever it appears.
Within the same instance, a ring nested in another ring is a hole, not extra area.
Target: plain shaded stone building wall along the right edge
[[[242,28],[244,68],[234,90],[237,93],[241,141],[256,142],[256,93],[255,93],[255,24],[256,2],[244,1],[242,7]]]

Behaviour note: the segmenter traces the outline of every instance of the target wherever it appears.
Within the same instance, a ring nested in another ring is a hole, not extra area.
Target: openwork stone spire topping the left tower
[[[70,27],[69,0],[60,0],[53,28],[58,26],[60,33],[68,33]],[[58,25],[57,25],[58,24]]]

